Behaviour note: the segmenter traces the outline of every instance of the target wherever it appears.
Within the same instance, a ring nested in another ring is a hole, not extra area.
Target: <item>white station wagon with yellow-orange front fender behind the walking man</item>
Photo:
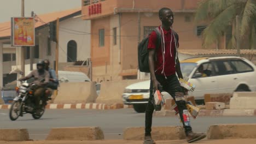
[[[188,58],[181,61],[181,70],[183,76],[196,86],[195,91],[188,94],[195,97],[197,104],[204,104],[206,93],[256,91],[256,66],[243,57]],[[124,104],[133,105],[137,112],[144,112],[149,98],[149,83],[148,80],[127,86],[123,93]]]

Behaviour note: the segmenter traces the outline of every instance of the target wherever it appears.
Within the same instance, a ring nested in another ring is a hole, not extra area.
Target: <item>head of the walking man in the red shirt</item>
[[[165,26],[172,26],[172,23],[173,23],[173,13],[172,13],[172,10],[169,9],[169,8],[161,8],[159,10],[159,19],[161,20],[162,22],[162,25],[165,25]]]

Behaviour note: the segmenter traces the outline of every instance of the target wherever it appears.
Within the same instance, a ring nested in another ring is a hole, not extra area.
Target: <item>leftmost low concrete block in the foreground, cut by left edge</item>
[[[0,141],[27,141],[27,129],[0,129]]]

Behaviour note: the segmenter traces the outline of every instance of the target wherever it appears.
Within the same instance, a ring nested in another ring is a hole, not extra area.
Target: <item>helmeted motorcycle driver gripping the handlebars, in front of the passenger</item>
[[[44,66],[44,61],[39,60],[37,62],[37,69],[32,70],[30,74],[19,79],[19,81],[26,81],[34,77],[33,83],[38,86],[34,91],[36,113],[40,113],[40,98],[43,98],[44,103],[46,103],[46,98],[48,99],[45,94],[45,87],[48,85],[50,75],[49,72],[44,69]],[[42,81],[42,79],[44,79],[44,81]]]

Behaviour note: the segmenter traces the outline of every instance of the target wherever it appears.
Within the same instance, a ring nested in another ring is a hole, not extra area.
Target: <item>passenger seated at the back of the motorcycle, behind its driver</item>
[[[55,70],[49,67],[50,62],[48,59],[44,59],[44,64],[45,64],[45,70],[47,70],[50,74],[50,79],[49,79],[49,83],[46,90],[47,91],[46,93],[48,93],[48,97],[50,97],[51,94],[53,93],[53,89],[57,90],[59,86],[59,80],[56,77]]]

